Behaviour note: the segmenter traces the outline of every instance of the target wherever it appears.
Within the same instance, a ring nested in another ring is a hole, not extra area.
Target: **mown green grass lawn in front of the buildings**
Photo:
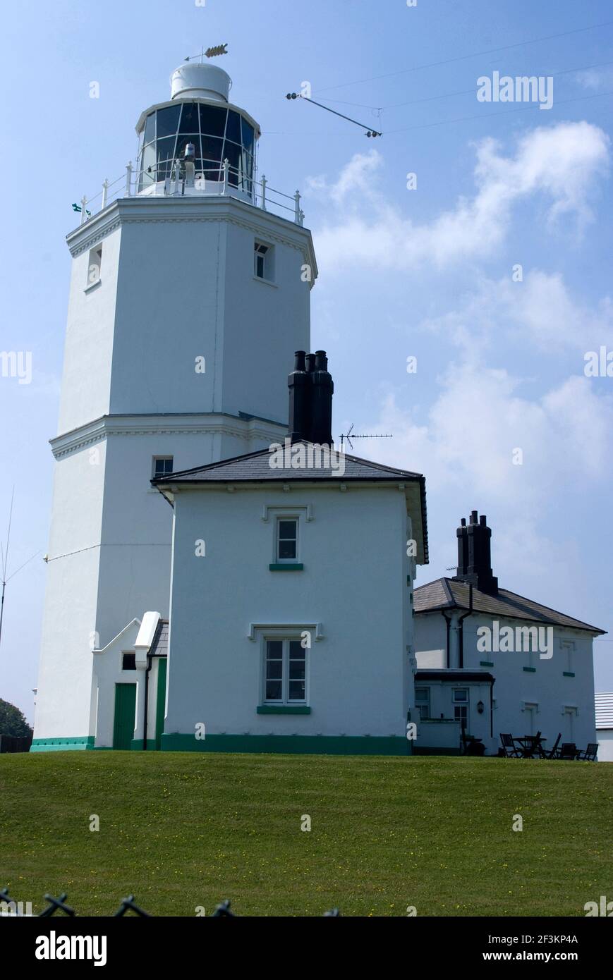
[[[612,803],[606,763],[4,755],[0,887],[79,914],[585,915],[613,898]]]

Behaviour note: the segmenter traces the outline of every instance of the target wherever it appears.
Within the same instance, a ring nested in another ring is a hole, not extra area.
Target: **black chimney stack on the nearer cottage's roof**
[[[326,351],[306,354],[296,351],[289,388],[289,438],[306,439],[332,446],[332,393],[334,383],[328,370]]]

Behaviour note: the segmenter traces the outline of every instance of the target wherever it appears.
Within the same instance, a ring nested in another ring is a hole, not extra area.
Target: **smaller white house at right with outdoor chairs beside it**
[[[458,570],[415,590],[417,752],[459,750],[460,731],[496,754],[500,733],[541,732],[545,749],[595,741],[594,636],[602,630],[498,588],[491,531],[473,511]]]

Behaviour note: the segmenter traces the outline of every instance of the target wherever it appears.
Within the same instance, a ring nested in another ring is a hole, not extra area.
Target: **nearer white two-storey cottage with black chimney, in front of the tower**
[[[324,352],[289,384],[284,446],[154,481],[174,509],[162,748],[407,754],[424,478],[329,450]]]

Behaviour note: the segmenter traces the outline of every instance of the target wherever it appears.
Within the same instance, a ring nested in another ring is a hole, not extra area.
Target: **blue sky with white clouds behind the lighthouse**
[[[183,58],[225,42],[260,175],[304,195],[334,435],[389,433],[354,452],[426,475],[417,584],[454,573],[479,510],[502,587],[610,631],[595,687],[613,690],[610,0],[23,0],[3,28],[0,351],[29,352],[31,380],[0,374],[0,698],[31,721],[72,202],[135,159]],[[480,101],[494,73],[542,97]],[[284,98],[303,83],[383,136]]]

